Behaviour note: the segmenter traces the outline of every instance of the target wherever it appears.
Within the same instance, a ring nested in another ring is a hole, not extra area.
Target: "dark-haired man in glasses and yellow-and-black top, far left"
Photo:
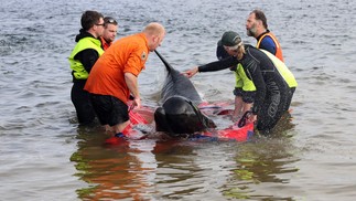
[[[97,11],[85,11],[80,19],[82,29],[76,35],[76,45],[69,55],[73,76],[72,103],[76,109],[78,123],[88,125],[95,119],[89,93],[84,91],[91,67],[104,53],[99,36],[104,33],[104,17]]]

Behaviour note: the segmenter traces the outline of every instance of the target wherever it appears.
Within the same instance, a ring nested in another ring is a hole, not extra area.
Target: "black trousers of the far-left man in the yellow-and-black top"
[[[85,82],[73,83],[71,98],[77,113],[80,125],[91,124],[95,119],[95,112],[90,102],[89,93],[84,91]]]

